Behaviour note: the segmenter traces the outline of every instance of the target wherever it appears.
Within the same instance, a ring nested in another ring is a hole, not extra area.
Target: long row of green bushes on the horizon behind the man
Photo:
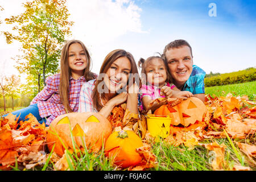
[[[255,81],[256,68],[248,68],[238,72],[224,73],[221,75],[206,77],[204,79],[205,87],[238,84],[242,82]]]

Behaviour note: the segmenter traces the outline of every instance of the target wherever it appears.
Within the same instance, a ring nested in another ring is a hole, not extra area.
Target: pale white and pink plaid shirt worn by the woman
[[[95,86],[94,81],[96,80],[90,80],[88,82],[85,82],[84,85],[82,85],[79,97],[79,113],[98,112],[96,109],[94,109],[92,100],[92,91]]]

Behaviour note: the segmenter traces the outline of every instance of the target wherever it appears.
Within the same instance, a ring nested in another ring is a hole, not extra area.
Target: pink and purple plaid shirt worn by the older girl
[[[77,80],[69,78],[69,106],[74,112],[79,107],[79,94],[85,77],[79,77]],[[53,119],[61,114],[65,114],[66,110],[60,101],[59,95],[60,73],[46,78],[46,86],[31,101],[30,105],[38,103],[40,117],[48,117],[46,124],[49,125]]]

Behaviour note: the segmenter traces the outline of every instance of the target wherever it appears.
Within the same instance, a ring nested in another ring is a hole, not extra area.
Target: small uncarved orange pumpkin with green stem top
[[[142,146],[142,140],[133,131],[115,131],[106,140],[105,155],[114,158],[118,166],[127,168],[141,162],[142,158],[136,148]]]

